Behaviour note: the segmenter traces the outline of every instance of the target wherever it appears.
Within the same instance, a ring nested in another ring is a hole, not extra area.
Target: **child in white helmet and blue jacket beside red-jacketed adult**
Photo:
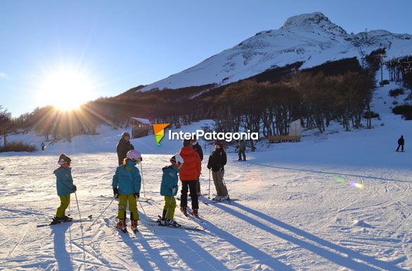
[[[170,159],[170,163],[172,163],[172,165],[162,168],[163,176],[162,185],[160,185],[160,194],[165,196],[165,207],[163,207],[162,218],[159,222],[162,225],[179,227],[179,224],[173,219],[174,209],[176,209],[176,199],[174,199],[174,196],[177,194],[179,182],[177,173],[183,165],[184,160],[180,154],[175,154],[174,157]]]

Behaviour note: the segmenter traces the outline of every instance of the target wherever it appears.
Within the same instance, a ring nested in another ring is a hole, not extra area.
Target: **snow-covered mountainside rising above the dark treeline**
[[[308,68],[342,58],[360,60],[378,48],[387,49],[387,59],[399,58],[412,53],[411,37],[385,30],[347,34],[322,13],[302,14],[286,20],[280,29],[259,32],[233,48],[139,91],[224,85],[297,61],[304,62],[301,68]]]

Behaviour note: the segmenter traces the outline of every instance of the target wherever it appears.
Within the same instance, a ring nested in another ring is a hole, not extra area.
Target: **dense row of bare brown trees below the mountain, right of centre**
[[[306,128],[323,132],[330,121],[361,127],[366,112],[371,128],[370,103],[375,77],[369,72],[325,76],[298,72],[277,83],[242,81],[214,100],[221,131],[263,131],[263,135],[288,135],[289,124],[302,120]]]

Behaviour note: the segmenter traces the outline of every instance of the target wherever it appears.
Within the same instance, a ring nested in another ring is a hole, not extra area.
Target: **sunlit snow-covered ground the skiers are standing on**
[[[138,206],[136,239],[113,227],[115,202],[91,230],[89,221],[83,228],[36,227],[58,206],[52,171],[62,151],[73,160],[82,218],[103,211],[112,198],[113,150],[121,131],[102,128],[100,135],[82,135],[46,152],[0,154],[0,270],[412,270],[412,125],[390,112],[394,99],[387,93],[395,87],[375,93],[373,111],[382,121],[374,120],[371,130],[307,131],[301,143],[262,145],[247,153],[248,161],[230,153],[225,180],[237,200],[206,205],[202,197],[205,232],[147,222],[161,213],[161,168],[179,142],[164,139],[157,147],[153,135],[133,141],[143,153],[146,197],[154,200],[141,203],[144,211]],[[401,134],[406,152],[394,152]],[[213,184],[211,191],[213,196]],[[69,212],[78,216],[74,195]],[[176,218],[196,224],[179,211]]]

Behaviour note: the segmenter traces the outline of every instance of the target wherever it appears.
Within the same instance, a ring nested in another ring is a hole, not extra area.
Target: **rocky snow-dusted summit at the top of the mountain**
[[[335,34],[347,35],[347,32],[342,27],[335,25],[328,17],[321,12],[306,13],[288,18],[281,30],[291,30],[295,28],[321,28],[326,32],[335,32]]]

